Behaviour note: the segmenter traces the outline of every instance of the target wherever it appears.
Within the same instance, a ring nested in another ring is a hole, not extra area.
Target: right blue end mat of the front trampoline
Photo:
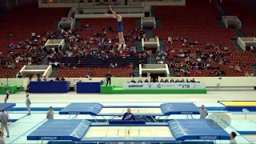
[[[222,127],[210,119],[177,119],[169,121],[168,124],[174,138],[179,141],[188,139],[230,139],[226,130],[223,130]]]

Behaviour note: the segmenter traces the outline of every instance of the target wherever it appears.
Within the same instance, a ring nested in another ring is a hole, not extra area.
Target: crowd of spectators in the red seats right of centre
[[[178,51],[174,50],[174,43],[181,42],[182,48]],[[217,46],[214,44],[206,44],[206,51],[211,50],[214,52],[203,52],[197,48],[191,51],[190,47],[197,47],[198,42],[189,41],[189,38],[171,38],[169,37],[166,42],[166,50],[157,52],[156,61],[159,64],[166,63],[170,66],[176,76],[180,77],[183,74],[186,77],[200,76],[202,70],[209,70],[209,76],[225,76],[226,71],[222,70],[223,65],[230,66],[230,70],[241,72],[241,68],[236,64],[232,66],[233,59],[230,57],[232,54],[228,46]],[[183,50],[184,49],[184,50]],[[250,66],[247,64],[246,66]],[[248,72],[247,72],[248,73]],[[246,76],[254,74],[245,74]]]

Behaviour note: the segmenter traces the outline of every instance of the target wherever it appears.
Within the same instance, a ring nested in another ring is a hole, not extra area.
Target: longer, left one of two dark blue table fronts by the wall
[[[68,82],[30,82],[30,93],[67,93]]]

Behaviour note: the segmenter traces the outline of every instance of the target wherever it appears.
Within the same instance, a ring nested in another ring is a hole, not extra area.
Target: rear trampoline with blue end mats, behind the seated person
[[[106,122],[109,122],[116,117],[121,117],[126,112],[126,108],[123,107],[132,108],[132,106],[122,106],[119,108],[116,106],[107,106],[104,108],[100,103],[71,103],[69,106],[60,110],[59,114],[89,114],[94,118],[95,122],[98,122],[97,117],[101,117]],[[148,122],[150,122],[149,118],[152,118],[154,122],[158,122],[158,119],[162,117],[165,117],[164,122],[166,122],[171,114],[184,114],[186,118],[189,118],[188,115],[199,114],[198,106],[195,106],[194,103],[163,103],[158,107],[145,106],[132,110],[134,117],[146,118]],[[109,111],[112,112],[109,113]],[[106,116],[110,116],[110,118],[105,118]]]

